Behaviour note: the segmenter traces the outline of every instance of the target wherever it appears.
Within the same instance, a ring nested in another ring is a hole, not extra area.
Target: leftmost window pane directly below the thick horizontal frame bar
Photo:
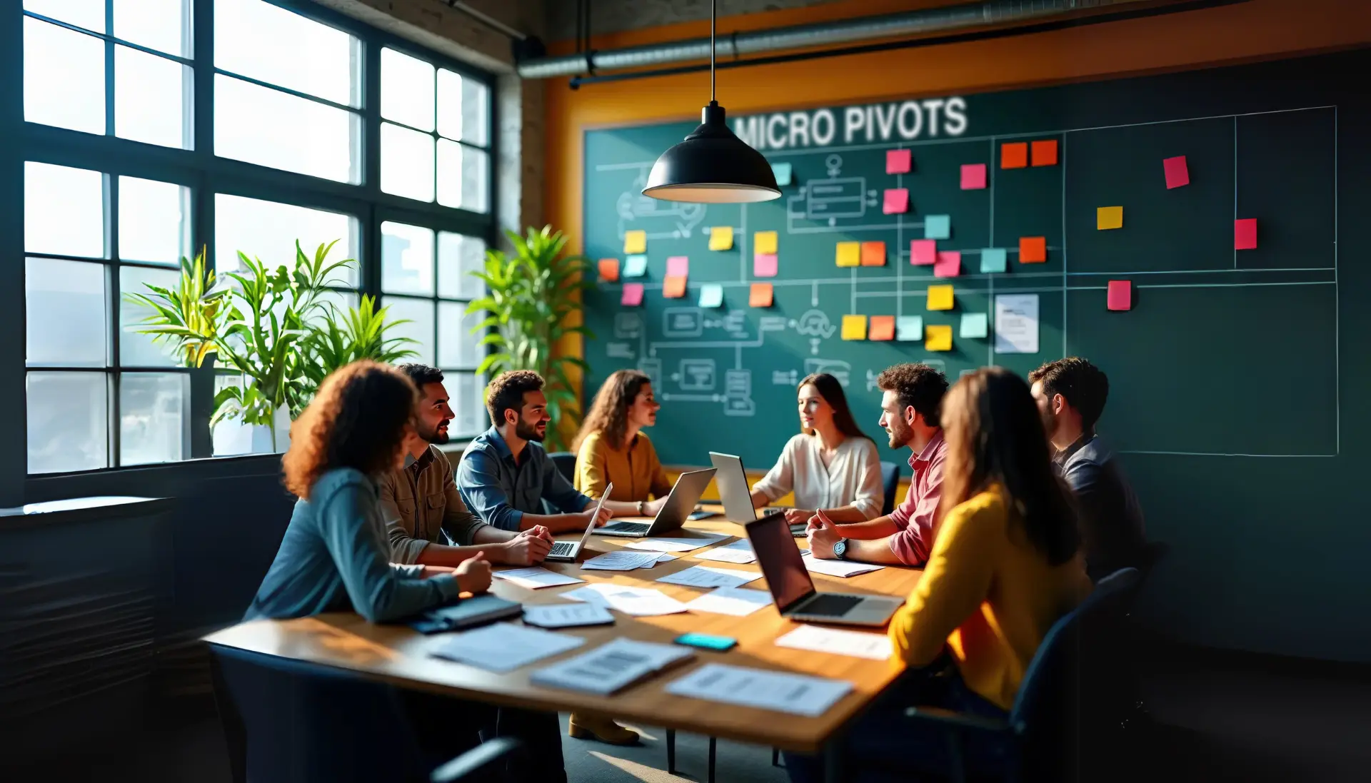
[[[25,162],[23,250],[104,258],[104,174]]]

